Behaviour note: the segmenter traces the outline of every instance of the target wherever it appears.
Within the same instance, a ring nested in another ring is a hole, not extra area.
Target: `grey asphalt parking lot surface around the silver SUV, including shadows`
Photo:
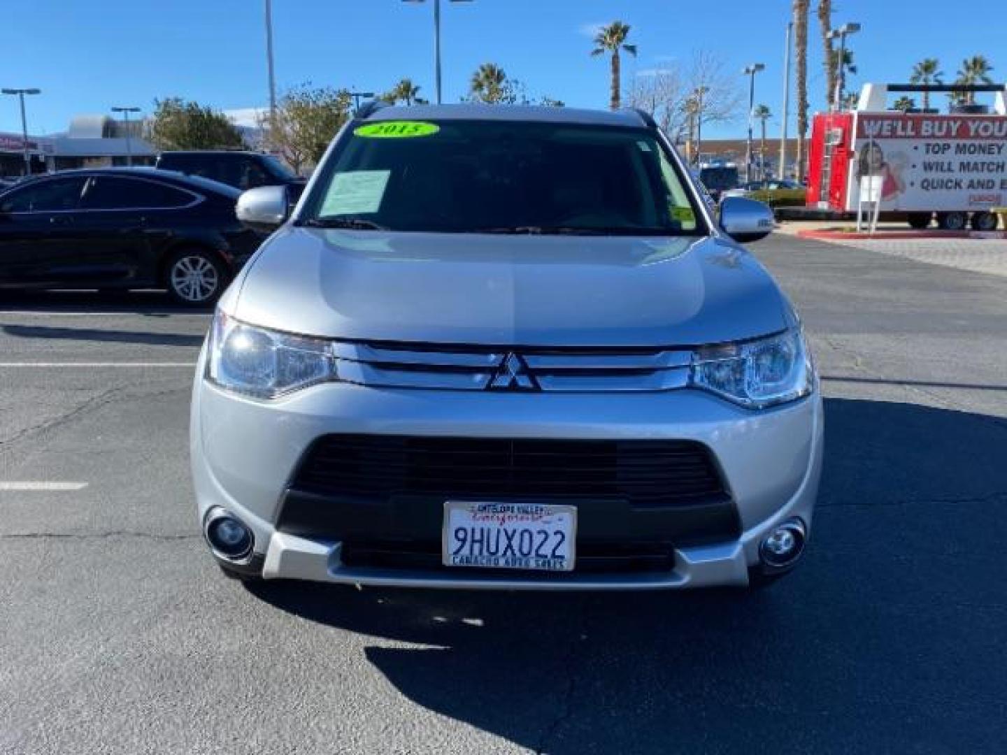
[[[208,312],[4,295],[0,752],[1004,752],[1007,279],[753,252],[827,395],[810,552],[756,593],[246,589],[188,481]]]

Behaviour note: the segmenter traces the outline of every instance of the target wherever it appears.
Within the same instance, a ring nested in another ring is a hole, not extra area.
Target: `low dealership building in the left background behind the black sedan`
[[[126,165],[130,154],[134,165],[152,165],[157,150],[143,138],[143,121],[127,126],[109,116],[77,116],[64,133],[29,135],[31,172]],[[0,175],[24,173],[24,146],[21,134],[0,132]]]

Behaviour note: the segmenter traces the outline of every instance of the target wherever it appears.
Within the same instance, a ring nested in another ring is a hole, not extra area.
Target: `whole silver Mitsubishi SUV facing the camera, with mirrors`
[[[371,110],[220,302],[192,398],[199,521],[245,579],[747,585],[809,536],[801,322],[636,112]]]

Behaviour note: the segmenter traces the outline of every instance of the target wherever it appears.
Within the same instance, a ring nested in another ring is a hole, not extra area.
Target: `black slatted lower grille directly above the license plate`
[[[682,440],[327,435],[292,487],[339,496],[618,498],[634,507],[724,497],[709,449]]]

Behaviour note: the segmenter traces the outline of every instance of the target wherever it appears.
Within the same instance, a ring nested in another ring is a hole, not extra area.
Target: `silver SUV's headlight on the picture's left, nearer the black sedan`
[[[213,317],[206,378],[221,388],[275,399],[335,376],[329,341],[253,327],[221,311]]]

